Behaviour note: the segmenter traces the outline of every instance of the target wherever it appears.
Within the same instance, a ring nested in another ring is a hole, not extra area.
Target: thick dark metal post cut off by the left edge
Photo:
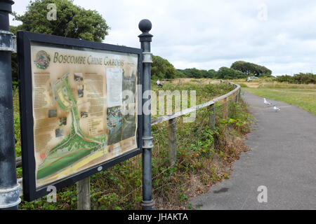
[[[0,210],[17,210],[21,201],[20,185],[16,180],[13,126],[11,52],[14,46],[8,18],[13,3],[0,0]]]

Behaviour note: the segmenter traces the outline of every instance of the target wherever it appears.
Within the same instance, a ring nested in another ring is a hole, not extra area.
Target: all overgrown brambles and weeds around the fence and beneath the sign
[[[232,86],[225,84],[164,85],[169,90],[197,90],[199,102],[225,94]],[[155,87],[154,87],[155,90]],[[186,89],[187,90],[187,89]],[[14,90],[15,148],[20,155],[20,121],[18,116],[18,90]],[[229,178],[231,164],[239,153],[247,148],[242,144],[249,132],[251,116],[243,102],[230,102],[228,116],[222,119],[222,106],[216,104],[216,126],[209,118],[213,108],[197,111],[195,123],[177,120],[178,150],[176,164],[169,165],[168,126],[160,123],[152,126],[152,187],[157,209],[190,209],[190,197],[206,192],[210,186]],[[18,168],[18,176],[22,171]],[[91,176],[91,209],[140,209],[142,164],[138,155],[110,169]],[[22,200],[20,209],[76,209],[75,185],[58,191],[57,202],[49,203],[46,197],[34,202]]]

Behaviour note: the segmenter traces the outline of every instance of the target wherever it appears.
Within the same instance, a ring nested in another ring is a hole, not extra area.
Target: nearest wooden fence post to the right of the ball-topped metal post
[[[169,120],[169,162],[170,165],[176,163],[177,156],[177,118]]]

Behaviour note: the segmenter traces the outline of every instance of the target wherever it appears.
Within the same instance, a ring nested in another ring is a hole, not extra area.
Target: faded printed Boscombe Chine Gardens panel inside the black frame
[[[31,54],[37,188],[137,148],[138,55],[38,44]]]

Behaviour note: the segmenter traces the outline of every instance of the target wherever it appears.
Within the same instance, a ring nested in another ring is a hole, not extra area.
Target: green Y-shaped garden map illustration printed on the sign
[[[106,134],[99,137],[89,137],[82,132],[77,99],[74,97],[68,83],[68,76],[69,73],[58,79],[53,84],[52,91],[53,104],[57,102],[62,111],[71,113],[71,132],[57,145],[47,149],[44,161],[37,169],[37,179],[43,179],[46,176],[54,174],[95,151],[103,150],[107,146]]]

